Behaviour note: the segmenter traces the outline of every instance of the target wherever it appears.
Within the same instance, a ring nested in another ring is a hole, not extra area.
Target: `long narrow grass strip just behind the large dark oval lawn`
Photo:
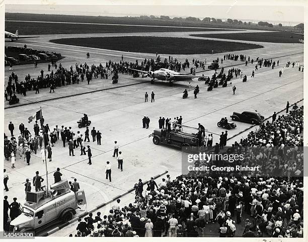
[[[18,30],[20,35],[221,31],[220,29],[166,28],[166,27],[122,26],[122,25],[114,26],[114,25],[95,25],[95,24],[31,23],[31,22],[6,21],[6,31],[15,33],[16,30]]]

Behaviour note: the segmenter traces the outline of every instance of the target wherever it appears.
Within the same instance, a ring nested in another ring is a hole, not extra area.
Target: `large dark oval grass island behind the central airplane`
[[[263,48],[261,45],[237,42],[146,36],[66,38],[51,40],[51,42],[129,52],[157,52],[160,54],[209,54],[212,53],[212,50],[215,53],[220,53]]]

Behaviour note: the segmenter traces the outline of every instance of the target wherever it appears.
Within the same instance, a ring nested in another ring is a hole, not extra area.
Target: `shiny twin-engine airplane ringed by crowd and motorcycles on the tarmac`
[[[192,78],[197,78],[197,77],[207,78],[207,76],[203,76],[203,75],[184,75],[179,72],[165,69],[165,68],[161,68],[155,71],[144,71],[144,70],[137,70],[137,69],[131,69],[131,70],[141,72],[143,74],[146,74],[147,77],[151,77],[152,78],[151,84],[154,83],[155,78],[159,80],[168,81],[170,86],[172,86],[172,82],[177,82],[180,80],[192,80]]]

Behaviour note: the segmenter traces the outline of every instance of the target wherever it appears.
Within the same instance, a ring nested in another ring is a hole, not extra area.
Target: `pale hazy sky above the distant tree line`
[[[268,0],[268,1],[155,1],[160,5],[154,5],[152,1],[96,1],[88,0],[89,5],[69,5],[70,0],[66,0],[65,4],[59,5],[57,1],[41,0],[27,1],[27,3],[48,3],[47,5],[12,5],[11,3],[23,3],[21,1],[11,0],[10,5],[6,5],[8,13],[36,13],[36,14],[65,14],[65,15],[87,15],[87,16],[140,16],[140,15],[167,15],[173,17],[197,17],[203,19],[205,17],[221,18],[221,19],[238,19],[238,20],[262,20],[274,23],[302,23],[304,8],[303,1],[293,0],[287,2],[284,0]],[[75,4],[84,4],[85,1],[73,1]],[[140,2],[142,5],[136,5]],[[181,6],[181,3],[185,6]],[[258,5],[256,5],[258,2]],[[63,3],[59,2],[59,3]],[[135,5],[129,5],[129,4]],[[290,3],[292,5],[290,6]],[[92,4],[92,5],[91,5]],[[100,4],[94,6],[93,4]],[[105,5],[102,5],[105,4]],[[113,4],[113,5],[112,5]],[[125,5],[123,5],[125,4]],[[164,5],[162,5],[164,4]],[[169,5],[168,5],[169,4]],[[200,4],[200,5],[196,5]],[[215,4],[215,5],[213,5]],[[220,4],[220,6],[217,6]],[[247,6],[249,4],[249,6]]]

